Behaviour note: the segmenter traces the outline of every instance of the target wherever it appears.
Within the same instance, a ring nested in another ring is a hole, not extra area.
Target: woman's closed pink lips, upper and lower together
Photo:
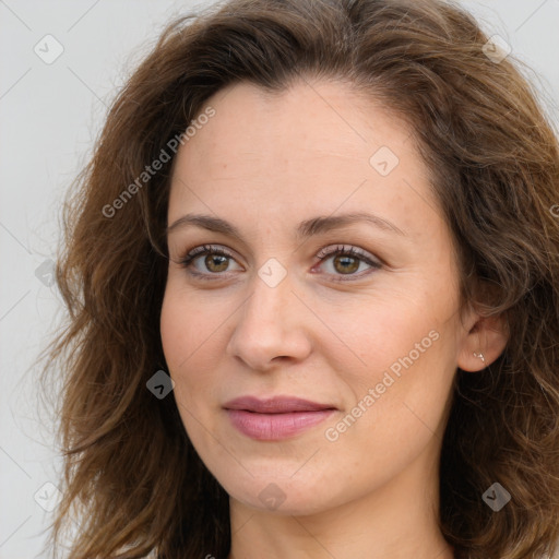
[[[336,409],[330,404],[290,396],[270,400],[243,396],[227,402],[223,407],[240,432],[264,441],[294,437],[324,420]]]

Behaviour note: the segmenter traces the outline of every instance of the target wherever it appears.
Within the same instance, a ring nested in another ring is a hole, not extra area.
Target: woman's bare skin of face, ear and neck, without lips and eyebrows
[[[324,80],[275,96],[236,84],[207,105],[215,116],[177,153],[168,224],[210,214],[242,239],[194,225],[168,234],[160,332],[185,428],[230,496],[229,559],[453,558],[437,527],[451,385],[456,367],[475,372],[497,359],[506,336],[473,307],[460,320],[451,234],[411,130],[348,84]],[[386,176],[369,163],[381,146],[400,159]],[[360,211],[405,235],[355,223],[295,237],[305,219]],[[234,258],[180,265],[205,243]],[[347,274],[335,255],[317,258],[338,245],[382,267],[349,261],[359,267]],[[272,258],[287,271],[274,287],[258,273]],[[429,332],[437,341],[364,405]],[[222,407],[247,394],[295,395],[336,412],[289,439],[257,441]],[[359,402],[366,411],[329,440],[326,429]],[[270,484],[280,506],[259,498]]]

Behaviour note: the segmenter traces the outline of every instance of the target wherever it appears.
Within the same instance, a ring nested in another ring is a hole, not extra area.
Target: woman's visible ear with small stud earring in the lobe
[[[462,333],[456,366],[464,371],[480,371],[504,350],[509,340],[507,319],[504,316],[483,317],[472,312],[466,323],[469,329]],[[485,361],[479,357],[480,354]]]

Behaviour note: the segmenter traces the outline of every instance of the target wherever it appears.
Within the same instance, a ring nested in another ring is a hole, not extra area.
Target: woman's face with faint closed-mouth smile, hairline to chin
[[[177,153],[160,317],[198,453],[233,499],[289,514],[436,490],[469,357],[411,130],[332,82],[209,105]]]

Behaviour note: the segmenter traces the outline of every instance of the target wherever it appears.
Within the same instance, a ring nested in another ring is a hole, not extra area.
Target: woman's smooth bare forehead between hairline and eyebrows
[[[405,227],[418,198],[431,197],[408,127],[348,84],[270,94],[240,83],[206,106],[215,115],[177,153],[169,222],[186,205],[247,217],[258,207],[257,218],[284,221],[302,217],[301,207],[329,215],[373,206],[385,215],[399,207]]]

